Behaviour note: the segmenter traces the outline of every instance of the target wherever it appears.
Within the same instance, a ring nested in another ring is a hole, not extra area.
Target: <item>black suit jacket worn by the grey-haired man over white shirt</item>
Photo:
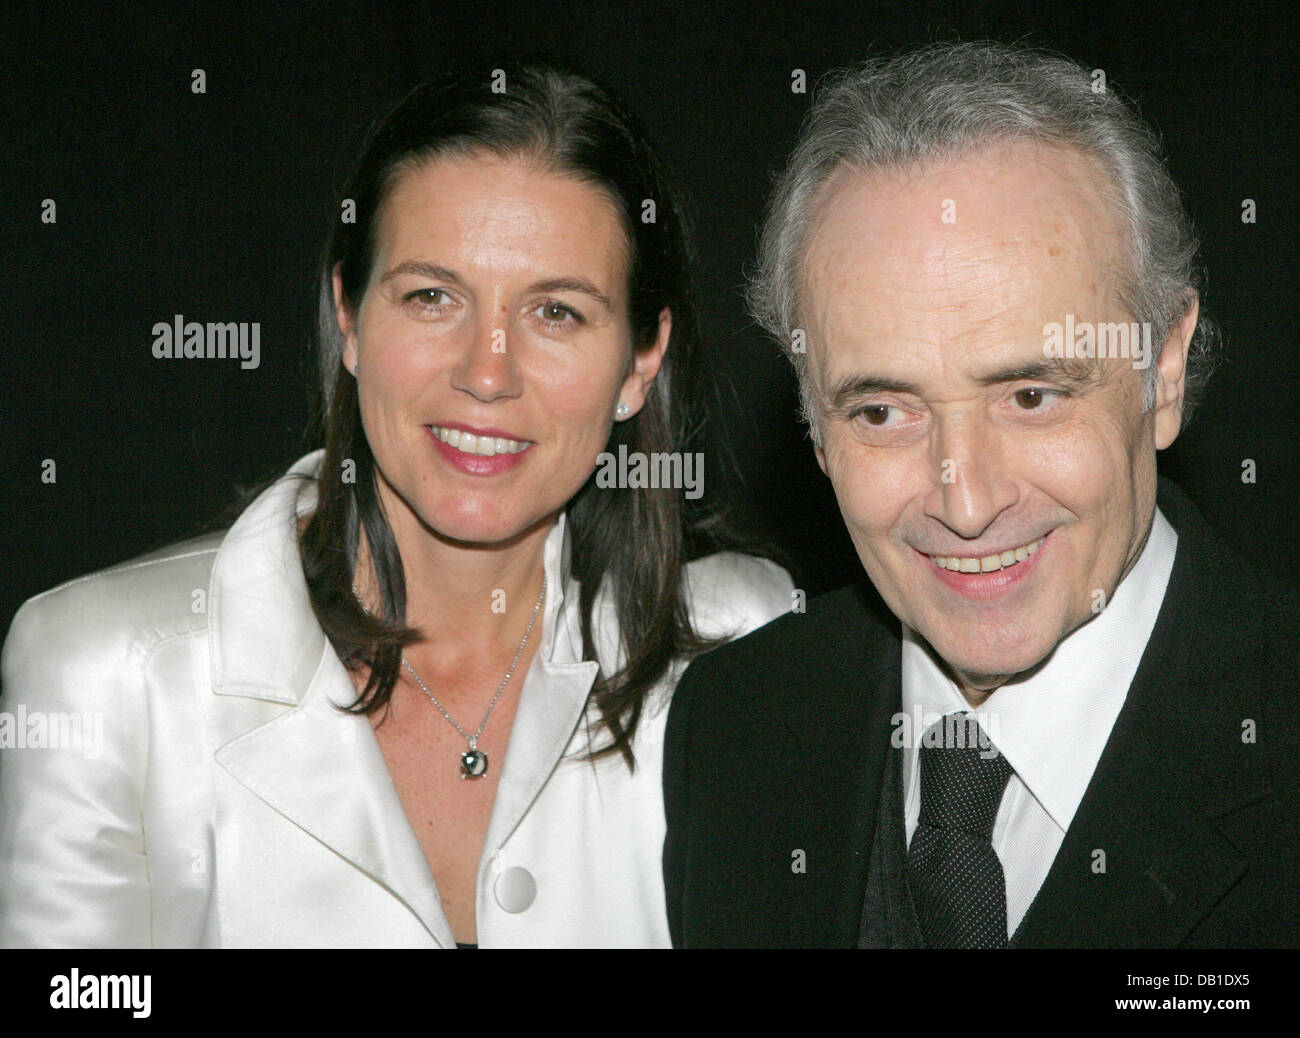
[[[1173,484],[1158,503],[1169,588],[1022,947],[1300,944],[1300,593]],[[863,585],[686,670],[664,753],[675,944],[857,946],[900,659]]]

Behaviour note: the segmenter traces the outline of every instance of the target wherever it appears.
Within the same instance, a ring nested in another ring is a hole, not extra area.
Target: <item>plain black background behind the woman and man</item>
[[[1245,555],[1300,583],[1296,31],[1287,5],[407,3],[0,13],[0,631],[56,583],[188,536],[302,453],[312,274],[365,126],[439,68],[542,52],[642,117],[696,204],[734,471],[706,497],[810,594],[858,562],[740,298],[770,174],[827,70],[932,39],[1052,47],[1135,96],[1201,233],[1227,363],[1161,457]],[[207,92],[191,92],[203,69]],[[807,73],[810,92],[790,90]],[[40,221],[42,200],[57,222]],[[1242,222],[1242,200],[1257,222]],[[156,321],[259,321],[261,364],[156,360]],[[716,453],[706,455],[710,460]],[[40,480],[55,459],[57,483]],[[1254,459],[1258,483],[1242,483]],[[1249,607],[1249,604],[1243,604]]]

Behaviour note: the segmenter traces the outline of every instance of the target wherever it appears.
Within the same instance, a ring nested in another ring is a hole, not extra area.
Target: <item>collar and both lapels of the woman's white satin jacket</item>
[[[218,723],[216,760],[239,783],[393,891],[454,943],[424,852],[348,674],[311,607],[298,519],[316,502],[322,451],[299,459],[222,541],[209,589],[212,688],[291,708]],[[510,838],[564,753],[599,670],[582,662],[578,593],[562,514],[546,539],[542,644],[525,678],[480,870]],[[221,715],[221,712],[218,712]],[[214,722],[216,723],[216,722]]]

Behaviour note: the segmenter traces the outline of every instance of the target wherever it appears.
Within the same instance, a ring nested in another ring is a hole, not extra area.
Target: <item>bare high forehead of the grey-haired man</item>
[[[1067,312],[1115,316],[1119,235],[1098,177],[1075,151],[1023,143],[906,170],[842,170],[803,268],[810,345],[840,347],[829,359],[840,371],[824,373],[870,356],[893,359],[902,377],[941,356],[980,379],[1041,359],[1044,324]]]

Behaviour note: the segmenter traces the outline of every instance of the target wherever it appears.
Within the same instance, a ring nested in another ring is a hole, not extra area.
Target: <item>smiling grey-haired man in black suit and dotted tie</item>
[[[1213,356],[1195,252],[1069,61],[936,46],[822,92],[751,302],[874,592],[684,676],[676,944],[1300,940],[1300,597],[1157,490]]]

